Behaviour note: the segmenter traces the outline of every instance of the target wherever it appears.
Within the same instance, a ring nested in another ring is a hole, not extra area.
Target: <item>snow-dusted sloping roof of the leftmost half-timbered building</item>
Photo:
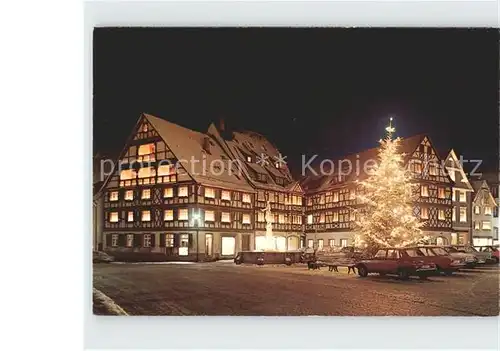
[[[186,172],[196,182],[208,186],[253,192],[253,188],[241,174],[237,163],[230,162],[229,155],[211,136],[150,114],[145,113],[143,116],[151,123],[175,157],[180,160]],[[210,152],[205,152],[203,149],[205,139],[210,145]]]

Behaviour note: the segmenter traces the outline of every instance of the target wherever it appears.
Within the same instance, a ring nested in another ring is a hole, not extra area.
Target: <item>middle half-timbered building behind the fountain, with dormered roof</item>
[[[255,249],[297,250],[303,246],[303,189],[294,180],[279,150],[264,136],[250,132],[230,132],[221,123],[212,124],[213,136],[255,189]],[[283,162],[284,161],[284,162]],[[263,209],[267,201],[274,215],[274,248],[266,248],[266,222]]]

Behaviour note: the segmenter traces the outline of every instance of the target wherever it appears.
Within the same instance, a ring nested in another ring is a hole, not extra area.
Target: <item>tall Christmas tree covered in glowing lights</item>
[[[413,215],[414,184],[405,169],[404,154],[400,153],[401,139],[392,138],[391,123],[387,136],[380,140],[378,164],[365,181],[358,198],[363,204],[357,210],[355,245],[368,249],[403,247],[422,240],[423,223]]]

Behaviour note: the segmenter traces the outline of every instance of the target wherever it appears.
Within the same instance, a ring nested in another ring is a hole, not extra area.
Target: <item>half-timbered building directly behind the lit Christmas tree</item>
[[[424,234],[441,244],[451,242],[452,183],[431,141],[416,135],[401,141],[405,165],[411,171],[415,187],[414,215],[424,222]],[[329,175],[308,175],[302,186],[306,192],[306,245],[348,246],[353,243],[355,209],[362,206],[356,197],[361,191],[357,180],[368,176],[370,165],[378,162],[378,148],[347,156],[333,162],[337,169]]]

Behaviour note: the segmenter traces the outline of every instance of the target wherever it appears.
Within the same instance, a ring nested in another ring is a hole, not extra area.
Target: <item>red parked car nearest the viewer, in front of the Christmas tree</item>
[[[408,279],[410,276],[423,278],[436,272],[433,257],[425,256],[418,248],[381,249],[373,258],[359,261],[356,268],[361,277],[379,273],[397,274],[401,279]]]

